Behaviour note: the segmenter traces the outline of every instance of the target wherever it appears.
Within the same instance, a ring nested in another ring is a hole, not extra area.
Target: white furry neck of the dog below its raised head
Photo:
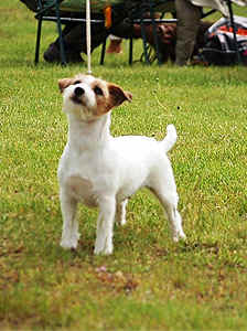
[[[77,116],[68,116],[68,143],[78,151],[97,149],[110,139],[110,113],[92,121],[84,121]]]

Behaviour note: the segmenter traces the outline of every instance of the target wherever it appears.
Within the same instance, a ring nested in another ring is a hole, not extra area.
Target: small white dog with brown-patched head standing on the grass
[[[90,75],[58,82],[63,110],[68,118],[68,140],[58,166],[63,215],[61,246],[76,248],[79,238],[75,218],[77,202],[98,206],[95,254],[111,254],[115,217],[126,223],[126,205],[138,189],[149,188],[164,206],[173,239],[185,238],[176,210],[178,194],[167,152],[176,140],[173,125],[162,141],[139,136],[114,138],[110,110],[130,102],[130,93]]]

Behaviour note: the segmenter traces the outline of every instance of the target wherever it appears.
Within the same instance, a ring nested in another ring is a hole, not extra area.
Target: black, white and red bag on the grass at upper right
[[[233,65],[238,60],[247,65],[247,18],[234,17],[239,57],[236,52],[233,28],[227,18],[222,18],[205,33],[205,45],[198,57],[203,63],[213,65]]]

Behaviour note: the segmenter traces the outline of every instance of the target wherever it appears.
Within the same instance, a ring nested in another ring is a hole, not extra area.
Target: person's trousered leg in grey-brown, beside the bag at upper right
[[[201,8],[189,0],[175,0],[178,17],[175,64],[186,65],[190,60],[200,26]]]

